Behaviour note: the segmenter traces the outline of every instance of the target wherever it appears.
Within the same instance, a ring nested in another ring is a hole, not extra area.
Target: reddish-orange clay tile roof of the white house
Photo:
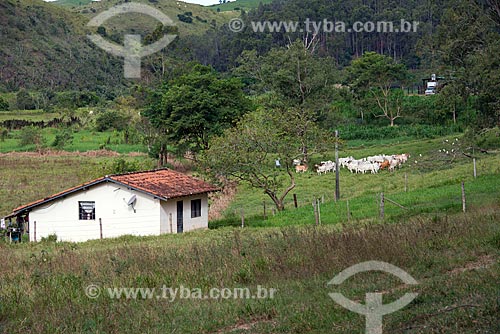
[[[59,197],[89,188],[102,182],[123,184],[131,189],[141,191],[164,200],[189,195],[204,194],[219,190],[219,188],[207,182],[170,169],[157,169],[152,171],[132,172],[110,176],[106,175],[105,177],[66,189],[52,196],[22,205],[15,208],[12,211],[12,214],[7,217],[15,216],[20,213],[20,211],[25,209],[31,209],[35,206],[53,201]]]

